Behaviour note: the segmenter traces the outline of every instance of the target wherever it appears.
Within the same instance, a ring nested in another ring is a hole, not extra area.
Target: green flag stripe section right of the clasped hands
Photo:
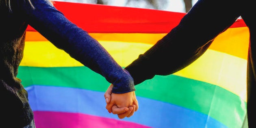
[[[246,115],[246,102],[238,95],[206,82],[175,75],[155,76],[136,89],[137,95],[204,113],[229,128],[243,124]]]

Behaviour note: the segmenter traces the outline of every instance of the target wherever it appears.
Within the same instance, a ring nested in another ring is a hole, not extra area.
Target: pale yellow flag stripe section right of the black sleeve
[[[207,50],[199,59],[175,75],[218,85],[245,102],[247,60],[236,56]]]

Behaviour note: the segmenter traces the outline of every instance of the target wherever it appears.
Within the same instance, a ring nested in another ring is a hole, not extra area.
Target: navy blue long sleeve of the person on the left
[[[54,46],[106,78],[114,85],[113,93],[135,91],[131,75],[118,65],[97,40],[69,21],[48,0],[31,0],[31,2],[35,9],[24,0],[19,0],[20,8],[30,26]]]

